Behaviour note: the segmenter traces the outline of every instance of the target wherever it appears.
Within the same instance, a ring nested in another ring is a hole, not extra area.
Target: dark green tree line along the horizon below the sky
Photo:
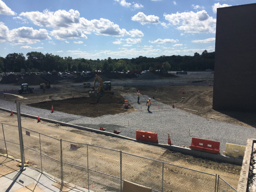
[[[157,64],[164,64],[158,65]],[[0,72],[46,72],[46,71],[145,71],[150,66],[169,71],[205,71],[214,69],[214,52],[204,50],[201,55],[194,56],[162,55],[156,58],[139,56],[127,59],[92,60],[84,58],[61,57],[41,52],[29,52],[26,58],[23,53],[10,53],[5,58],[0,57]]]

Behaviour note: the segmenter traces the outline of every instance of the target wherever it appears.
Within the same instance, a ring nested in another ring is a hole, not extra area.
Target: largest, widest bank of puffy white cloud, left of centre
[[[58,10],[51,12],[44,10],[21,13],[20,18],[26,17],[35,25],[53,28],[50,32],[56,39],[87,39],[87,34],[95,33],[100,35],[111,35],[123,37],[130,35],[126,29],[120,29],[119,25],[114,24],[108,19],[100,18],[91,21],[80,17],[79,11],[73,9],[69,11]],[[142,32],[141,32],[142,33]]]

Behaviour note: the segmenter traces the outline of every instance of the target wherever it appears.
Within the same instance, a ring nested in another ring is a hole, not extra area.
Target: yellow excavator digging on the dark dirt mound
[[[95,85],[96,82],[99,82],[98,84],[98,90],[95,91]],[[95,75],[95,79],[93,82],[92,89],[89,92],[90,97],[102,97],[104,95],[104,92],[111,93],[111,82],[102,82],[102,79],[97,74]]]

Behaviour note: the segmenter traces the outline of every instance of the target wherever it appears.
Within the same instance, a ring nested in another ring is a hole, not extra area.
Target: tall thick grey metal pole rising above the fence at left
[[[16,103],[17,107],[17,118],[18,118],[18,135],[20,140],[20,150],[21,150],[21,171],[25,171],[26,167],[24,167],[24,144],[23,144],[23,137],[22,137],[22,129],[21,129],[21,106],[20,103]]]

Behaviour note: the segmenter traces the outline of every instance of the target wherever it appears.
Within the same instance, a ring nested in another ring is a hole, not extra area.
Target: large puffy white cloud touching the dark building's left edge
[[[215,33],[216,19],[210,17],[205,10],[194,13],[183,12],[164,14],[170,24],[177,26],[177,29],[185,33]]]

